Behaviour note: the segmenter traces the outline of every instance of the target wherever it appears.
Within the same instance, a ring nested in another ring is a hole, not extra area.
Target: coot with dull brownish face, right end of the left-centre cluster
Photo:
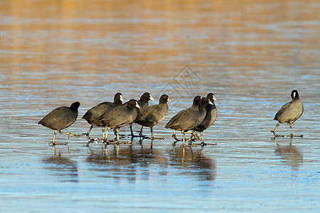
[[[167,102],[171,102],[168,95],[162,94],[159,99],[159,104],[148,107],[137,116],[137,119],[134,120],[137,124],[150,127],[151,139],[156,139],[154,138],[154,125],[159,124],[164,120],[166,114],[168,114],[169,107]]]

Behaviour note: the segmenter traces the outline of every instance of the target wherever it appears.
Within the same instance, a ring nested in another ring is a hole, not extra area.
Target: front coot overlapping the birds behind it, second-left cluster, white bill
[[[102,124],[104,141],[107,141],[109,130],[114,128],[117,131],[117,142],[119,142],[119,129],[131,124],[137,118],[136,108],[140,108],[138,102],[131,99],[126,105],[110,109],[100,116],[98,122]],[[106,135],[105,126],[108,127]]]

